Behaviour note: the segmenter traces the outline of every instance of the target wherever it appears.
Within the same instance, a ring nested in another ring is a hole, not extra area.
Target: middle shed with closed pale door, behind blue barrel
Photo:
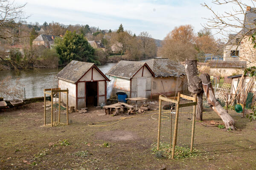
[[[113,88],[112,96],[116,91],[123,91],[128,98],[151,98],[151,79],[154,73],[147,63],[121,60],[106,75],[111,79],[109,87]]]

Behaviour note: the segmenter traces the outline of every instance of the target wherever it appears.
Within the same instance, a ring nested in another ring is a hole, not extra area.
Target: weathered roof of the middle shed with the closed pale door
[[[119,61],[115,66],[113,66],[106,75],[127,78],[130,79],[140,70],[143,66],[146,66],[151,74],[154,76],[153,71],[145,62],[140,61]]]

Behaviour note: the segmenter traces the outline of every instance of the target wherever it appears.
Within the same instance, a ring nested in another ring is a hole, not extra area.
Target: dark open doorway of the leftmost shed
[[[86,105],[87,106],[97,106],[98,96],[97,96],[97,82],[86,82]]]

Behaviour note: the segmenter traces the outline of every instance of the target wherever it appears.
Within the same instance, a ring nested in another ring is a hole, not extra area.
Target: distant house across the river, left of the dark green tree
[[[54,45],[54,39],[56,37],[60,37],[60,36],[40,34],[38,37],[35,38],[35,40],[33,40],[32,44],[44,45],[44,47],[46,48],[52,48],[52,46]]]

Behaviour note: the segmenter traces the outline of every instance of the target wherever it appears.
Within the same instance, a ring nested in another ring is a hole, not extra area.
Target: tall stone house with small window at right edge
[[[224,48],[224,61],[246,61],[248,66],[256,66],[256,49],[253,48],[250,34],[256,28],[256,8],[247,6],[244,23],[241,31],[230,34]]]

